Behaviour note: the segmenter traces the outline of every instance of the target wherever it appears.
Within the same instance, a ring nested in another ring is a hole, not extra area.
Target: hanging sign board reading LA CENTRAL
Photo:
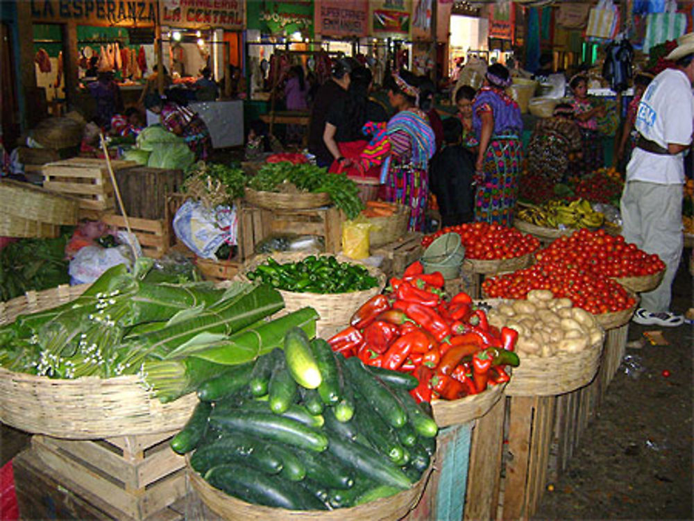
[[[161,0],[162,25],[241,30],[244,4],[244,0]]]

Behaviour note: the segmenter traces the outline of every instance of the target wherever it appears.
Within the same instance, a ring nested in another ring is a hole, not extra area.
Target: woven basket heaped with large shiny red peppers
[[[414,262],[328,340],[345,357],[414,375],[419,385],[410,393],[432,402],[439,426],[484,415],[509,381],[507,367],[519,364],[518,333],[489,325],[486,311],[466,293],[446,299],[443,284],[441,273],[425,274]]]

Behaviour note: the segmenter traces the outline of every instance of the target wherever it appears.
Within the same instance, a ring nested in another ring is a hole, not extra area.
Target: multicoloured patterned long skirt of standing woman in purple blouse
[[[475,196],[475,221],[511,226],[518,198],[521,140],[493,137],[486,148],[484,172]]]

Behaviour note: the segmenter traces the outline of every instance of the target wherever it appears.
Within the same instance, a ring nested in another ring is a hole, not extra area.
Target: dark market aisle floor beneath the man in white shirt
[[[682,262],[673,284],[675,309],[693,306],[692,287]],[[658,329],[632,323],[629,341]],[[598,418],[534,519],[694,518],[693,332],[691,325],[664,329],[669,346],[627,349],[643,372],[637,375],[637,366],[632,376],[620,370],[613,379]]]

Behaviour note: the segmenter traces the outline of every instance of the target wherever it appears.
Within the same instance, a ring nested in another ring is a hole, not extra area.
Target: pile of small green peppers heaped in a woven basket
[[[332,255],[309,255],[301,261],[287,264],[280,264],[270,257],[246,276],[277,289],[301,293],[348,293],[378,285],[378,279],[370,275],[364,266],[339,262]]]

